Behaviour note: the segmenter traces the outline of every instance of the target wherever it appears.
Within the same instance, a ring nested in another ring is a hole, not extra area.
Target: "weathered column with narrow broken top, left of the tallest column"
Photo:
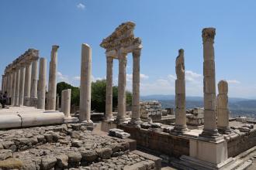
[[[186,109],[185,109],[185,64],[184,64],[184,50],[178,50],[176,58],[176,75],[175,80],[175,128],[173,133],[182,134],[188,131],[186,124]]]

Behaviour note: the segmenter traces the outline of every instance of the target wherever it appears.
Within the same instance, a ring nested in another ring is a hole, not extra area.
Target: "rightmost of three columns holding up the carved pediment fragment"
[[[140,123],[140,51],[133,50],[133,100],[131,123]]]

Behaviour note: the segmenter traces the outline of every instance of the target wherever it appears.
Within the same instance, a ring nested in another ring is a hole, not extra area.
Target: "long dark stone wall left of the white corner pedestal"
[[[119,125],[137,141],[137,147],[147,148],[161,155],[179,157],[189,155],[189,139],[177,137],[164,132],[152,131],[150,129],[135,128],[129,125]]]

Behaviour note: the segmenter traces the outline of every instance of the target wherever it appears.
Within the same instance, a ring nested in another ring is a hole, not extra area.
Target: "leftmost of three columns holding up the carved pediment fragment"
[[[112,120],[112,68],[113,58],[112,56],[106,56],[107,69],[106,69],[106,121]]]

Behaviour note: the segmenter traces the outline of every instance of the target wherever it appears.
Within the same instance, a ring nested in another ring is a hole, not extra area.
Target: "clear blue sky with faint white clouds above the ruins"
[[[253,0],[1,0],[0,70],[29,48],[39,49],[49,66],[51,46],[57,44],[58,81],[78,86],[81,43],[88,43],[94,80],[102,79],[106,56],[100,42],[120,23],[133,21],[144,45],[141,94],[175,93],[175,58],[183,48],[187,95],[202,96],[201,31],[211,26],[216,28],[216,81],[229,81],[230,97],[256,98],[255,8]],[[128,55],[128,90],[132,62]]]

